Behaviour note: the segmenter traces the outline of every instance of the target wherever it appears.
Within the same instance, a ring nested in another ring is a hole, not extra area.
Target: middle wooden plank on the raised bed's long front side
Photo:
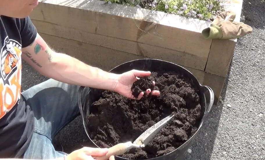
[[[117,51],[141,55],[149,58],[162,59],[182,66],[204,71],[208,56],[193,55],[168,48],[152,46],[149,44],[88,33],[73,28],[58,26],[45,21],[32,20],[39,33],[45,33],[79,42],[102,46]]]

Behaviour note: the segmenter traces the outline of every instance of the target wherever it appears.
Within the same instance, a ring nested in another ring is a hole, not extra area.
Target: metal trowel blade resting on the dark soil
[[[173,116],[167,116],[161,121],[157,122],[150,128],[148,128],[144,133],[142,133],[133,144],[140,145],[140,147],[145,147],[157,134],[158,132],[166,125],[166,123],[173,118]]]

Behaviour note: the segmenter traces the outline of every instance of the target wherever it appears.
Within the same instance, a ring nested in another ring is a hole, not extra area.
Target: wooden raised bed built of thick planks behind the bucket
[[[239,21],[242,0],[226,3]],[[205,40],[206,21],[102,1],[42,0],[30,17],[53,49],[106,71],[146,57],[179,64],[214,90],[215,104],[237,41]]]

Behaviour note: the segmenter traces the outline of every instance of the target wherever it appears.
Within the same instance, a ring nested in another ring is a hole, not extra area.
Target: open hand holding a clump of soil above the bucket
[[[131,70],[125,73],[122,73],[119,75],[118,78],[118,82],[117,85],[114,89],[114,91],[116,91],[117,93],[119,93],[122,96],[125,96],[127,98],[131,98],[131,99],[141,99],[144,96],[144,92],[141,92],[138,96],[138,98],[135,98],[132,95],[132,91],[131,91],[131,87],[133,82],[135,82],[137,80],[136,77],[145,77],[145,76],[149,76],[151,75],[150,71],[139,71],[139,70]],[[153,81],[153,85],[155,85],[155,82]],[[151,89],[147,89],[146,90],[146,94],[152,94],[154,96],[159,96],[160,95],[160,91],[157,90],[153,90],[151,91]]]

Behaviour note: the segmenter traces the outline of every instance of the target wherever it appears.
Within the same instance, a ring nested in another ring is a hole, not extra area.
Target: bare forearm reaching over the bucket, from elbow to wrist
[[[43,75],[68,84],[107,90],[113,90],[117,85],[117,74],[89,66],[62,53],[53,53],[51,64],[45,68]]]

